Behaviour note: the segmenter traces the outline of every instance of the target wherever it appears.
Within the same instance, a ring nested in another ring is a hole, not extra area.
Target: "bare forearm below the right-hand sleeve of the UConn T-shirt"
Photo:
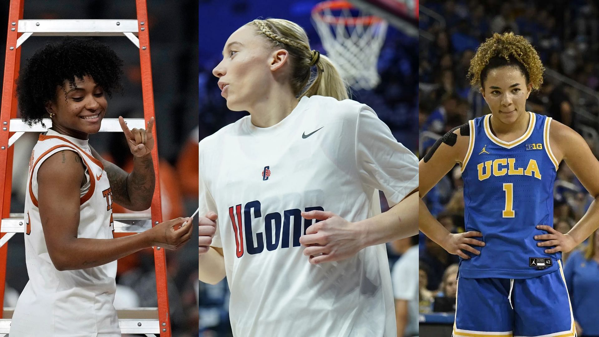
[[[418,234],[418,191],[387,212],[357,222],[364,228],[364,246],[380,245]]]

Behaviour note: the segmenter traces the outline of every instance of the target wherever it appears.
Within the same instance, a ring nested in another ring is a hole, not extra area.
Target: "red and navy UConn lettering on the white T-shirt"
[[[304,212],[311,210],[324,209],[320,206],[304,208]],[[305,234],[307,228],[313,224],[313,220],[302,218],[301,209],[287,209],[283,212],[272,212],[265,215],[263,218],[264,233],[262,231],[254,233],[252,227],[258,227],[258,219],[262,218],[261,204],[258,200],[250,201],[243,207],[242,204],[229,207],[229,218],[235,235],[237,257],[243,256],[244,243],[249,254],[259,254],[264,251],[264,247],[267,251],[274,251],[279,246],[280,248],[289,248],[290,244],[298,247],[300,246],[299,237]],[[316,222],[319,221],[316,220]]]

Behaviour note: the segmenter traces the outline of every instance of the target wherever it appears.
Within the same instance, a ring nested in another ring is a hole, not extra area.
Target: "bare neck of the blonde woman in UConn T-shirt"
[[[289,90],[271,90],[247,111],[252,118],[252,124],[259,128],[268,128],[283,121],[298,105],[298,99]]]

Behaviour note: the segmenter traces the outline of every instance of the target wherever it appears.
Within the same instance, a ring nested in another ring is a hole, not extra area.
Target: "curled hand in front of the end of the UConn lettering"
[[[357,222],[349,222],[332,212],[312,210],[301,212],[305,219],[321,220],[311,225],[305,235],[299,237],[299,243],[304,245],[304,255],[310,257],[311,264],[332,262],[352,257],[364,248],[363,230]]]

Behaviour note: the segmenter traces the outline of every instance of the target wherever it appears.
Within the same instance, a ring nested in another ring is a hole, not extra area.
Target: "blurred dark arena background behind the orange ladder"
[[[197,7],[195,0],[147,0],[152,73],[155,95],[158,153],[161,158],[163,219],[189,216],[198,207],[198,59]],[[26,0],[24,19],[135,19],[135,1]],[[0,22],[8,23],[8,1],[0,5]],[[0,32],[1,71],[4,72],[6,32]],[[31,37],[22,47],[26,58],[47,41],[59,37]],[[109,100],[107,118],[119,115],[143,118],[140,58],[137,47],[125,37],[98,38],[123,59],[123,92]],[[0,86],[2,83],[0,83]],[[29,133],[16,142],[14,152],[11,212],[22,213],[26,173],[37,134]],[[132,155],[122,133],[99,133],[90,144],[99,153],[129,171]],[[110,158],[110,159],[109,159]],[[155,163],[156,164],[156,163]],[[114,204],[115,213],[125,212]],[[197,220],[197,218],[196,218]],[[195,223],[197,223],[195,221]],[[178,251],[167,252],[168,291],[173,336],[198,335],[197,248],[192,240]],[[7,289],[4,307],[14,307],[28,281],[23,235],[8,242]],[[156,306],[156,285],[151,249],[119,260],[115,305],[119,308]]]

